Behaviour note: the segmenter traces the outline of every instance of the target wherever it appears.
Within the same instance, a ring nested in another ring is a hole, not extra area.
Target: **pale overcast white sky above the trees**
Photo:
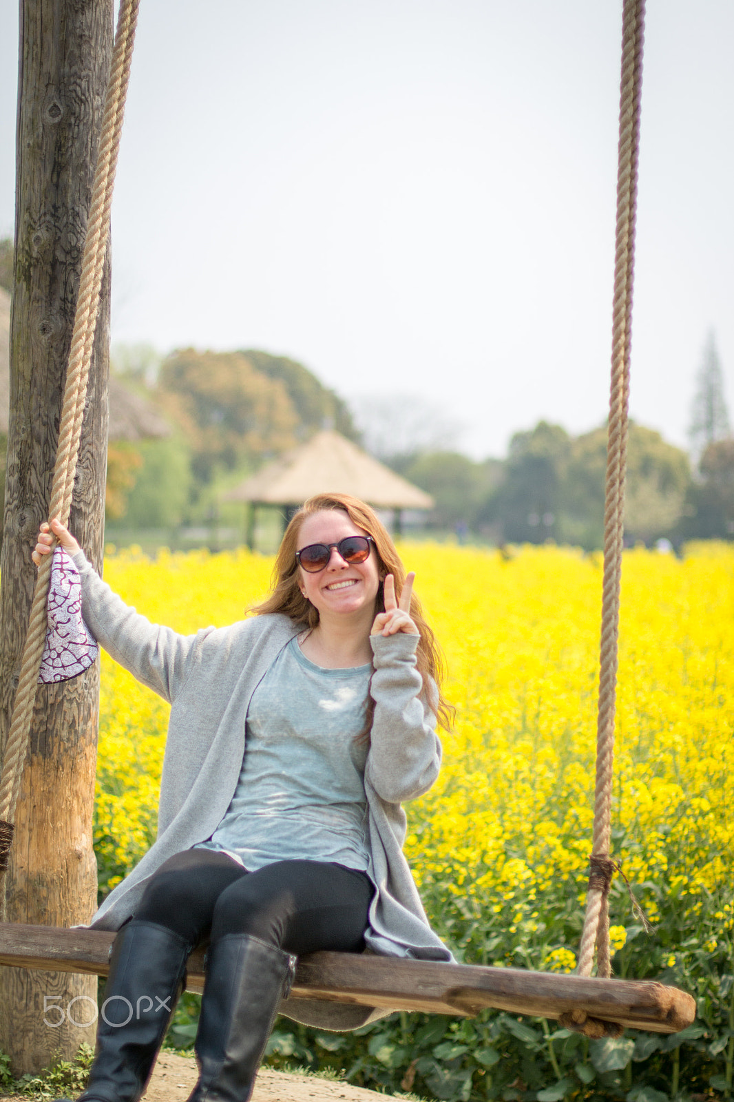
[[[0,235],[18,13],[0,10]],[[620,0],[142,0],[112,339],[263,348],[501,455],[606,414]],[[734,3],[648,0],[632,411],[734,407]]]

